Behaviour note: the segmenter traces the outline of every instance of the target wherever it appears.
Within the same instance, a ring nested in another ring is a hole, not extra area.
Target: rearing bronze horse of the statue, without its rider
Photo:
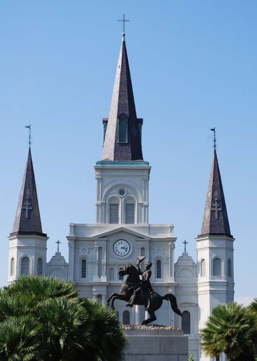
[[[123,267],[123,269],[119,270],[119,276],[124,276],[124,275],[128,275],[128,276],[125,282],[122,283],[120,293],[113,293],[107,299],[107,305],[109,305],[110,301],[112,300],[111,303],[112,309],[115,309],[114,301],[116,299],[120,299],[126,302],[130,301],[130,298],[134,292],[133,288],[136,287],[138,283],[141,281],[139,278],[138,270],[131,263],[128,263],[125,267]],[[161,307],[163,299],[170,301],[172,310],[179,316],[182,316],[180,310],[177,307],[176,297],[171,293],[167,293],[166,295],[161,296],[158,293],[154,292],[152,295],[149,295],[148,290],[142,290],[142,292],[140,292],[136,297],[135,305],[145,305],[144,300],[148,299],[149,297],[150,297],[150,301],[148,302],[148,305],[146,305],[145,307],[150,317],[142,321],[140,325],[148,325],[150,324],[150,322],[156,320],[156,316],[154,312]]]

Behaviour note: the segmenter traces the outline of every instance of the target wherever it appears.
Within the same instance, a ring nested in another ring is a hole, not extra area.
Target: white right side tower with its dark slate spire
[[[205,327],[207,317],[219,303],[234,299],[233,242],[227,208],[219,172],[216,149],[205,204],[201,234],[197,242],[197,294],[199,329]],[[200,360],[210,358],[201,355]]]

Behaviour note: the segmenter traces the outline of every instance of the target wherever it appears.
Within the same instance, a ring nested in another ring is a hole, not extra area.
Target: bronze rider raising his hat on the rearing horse
[[[136,300],[136,297],[139,294],[139,292],[145,291],[145,290],[148,291],[147,292],[148,299],[144,300],[145,305],[147,305],[148,300],[151,301],[150,295],[152,295],[154,293],[154,290],[152,289],[152,285],[151,285],[151,282],[150,282],[150,278],[151,278],[151,275],[152,275],[152,271],[151,271],[152,263],[151,262],[146,262],[145,270],[142,272],[141,269],[140,269],[140,263],[142,262],[142,260],[144,258],[145,258],[145,256],[137,257],[137,270],[138,270],[139,278],[141,279],[141,281],[137,284],[137,286],[135,288],[132,288],[132,289],[134,289],[134,293],[133,293],[133,295],[132,295],[132,297],[130,299],[130,302],[127,303],[126,306],[133,307],[133,305],[135,303],[135,300]],[[142,292],[143,295],[145,295],[145,293],[146,292]]]

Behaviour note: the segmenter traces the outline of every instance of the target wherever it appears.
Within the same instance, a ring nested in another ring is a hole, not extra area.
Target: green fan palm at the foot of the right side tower
[[[215,307],[200,335],[201,347],[211,357],[224,352],[230,361],[254,361],[254,318],[237,303]]]

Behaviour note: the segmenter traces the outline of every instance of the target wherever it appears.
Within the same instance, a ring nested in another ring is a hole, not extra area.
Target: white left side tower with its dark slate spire
[[[42,232],[29,147],[13,230],[9,236],[8,283],[20,274],[46,274],[47,239],[47,235]]]

